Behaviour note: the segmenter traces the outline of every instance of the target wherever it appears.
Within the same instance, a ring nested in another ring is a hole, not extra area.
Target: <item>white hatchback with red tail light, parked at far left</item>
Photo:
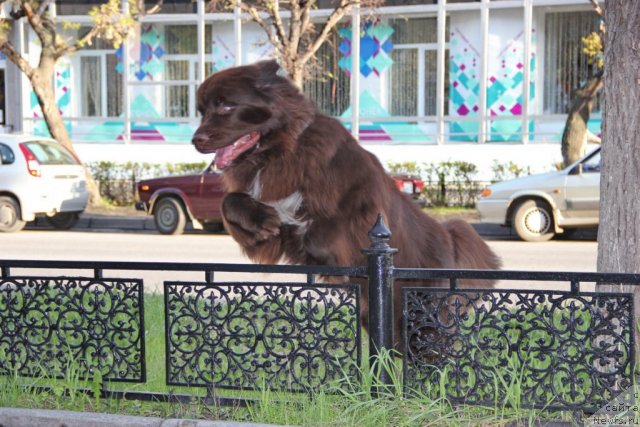
[[[84,166],[53,139],[0,135],[0,232],[21,230],[44,214],[71,228],[89,199]]]

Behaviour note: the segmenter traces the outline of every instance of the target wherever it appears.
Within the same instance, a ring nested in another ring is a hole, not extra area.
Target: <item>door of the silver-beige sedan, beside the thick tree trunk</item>
[[[600,150],[578,163],[567,175],[566,218],[597,223],[600,210]]]

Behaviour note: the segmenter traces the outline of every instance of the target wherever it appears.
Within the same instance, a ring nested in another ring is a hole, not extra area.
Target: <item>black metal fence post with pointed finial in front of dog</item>
[[[369,276],[369,364],[377,363],[378,385],[371,393],[378,396],[393,379],[377,360],[383,350],[393,350],[393,254],[397,249],[389,246],[391,232],[378,214],[375,225],[369,231],[371,246],[362,252],[368,258]]]

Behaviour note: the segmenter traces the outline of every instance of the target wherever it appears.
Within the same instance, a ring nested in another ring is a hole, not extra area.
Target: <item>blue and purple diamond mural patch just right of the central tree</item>
[[[338,65],[348,75],[351,75],[351,26],[345,26],[338,30],[342,37],[342,43],[338,51],[342,58]],[[391,35],[393,28],[379,22],[367,21],[364,23],[360,36],[360,73],[368,77],[371,73],[380,76],[380,73],[393,65],[393,59],[389,53],[393,49]]]

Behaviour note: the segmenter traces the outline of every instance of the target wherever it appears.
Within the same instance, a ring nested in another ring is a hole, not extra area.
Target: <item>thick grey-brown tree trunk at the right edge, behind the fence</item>
[[[607,0],[605,110],[600,180],[599,272],[640,272],[640,8]],[[598,291],[633,292],[640,319],[640,287],[598,284]],[[635,331],[636,348],[640,343]]]

